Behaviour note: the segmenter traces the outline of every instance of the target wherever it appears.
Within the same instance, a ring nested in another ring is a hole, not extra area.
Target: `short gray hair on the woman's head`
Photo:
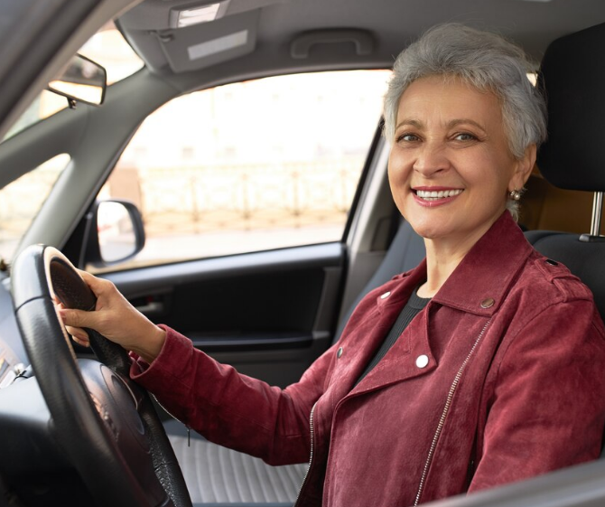
[[[434,26],[399,54],[385,95],[385,135],[393,142],[399,101],[414,80],[428,76],[457,77],[500,100],[511,153],[520,159],[526,147],[546,139],[546,105],[527,79],[532,71],[525,52],[496,33],[459,23]],[[520,189],[519,189],[520,190]],[[517,215],[517,202],[508,208]]]

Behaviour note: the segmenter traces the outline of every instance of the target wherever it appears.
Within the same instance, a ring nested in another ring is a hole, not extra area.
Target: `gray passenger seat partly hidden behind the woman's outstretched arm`
[[[340,320],[334,342],[340,337],[363,296],[389,279],[415,268],[424,258],[424,242],[402,221],[380,266],[357,300]],[[197,433],[187,435],[180,422],[164,424],[194,506],[291,506],[301,487],[307,464],[271,466],[259,458],[212,444]]]

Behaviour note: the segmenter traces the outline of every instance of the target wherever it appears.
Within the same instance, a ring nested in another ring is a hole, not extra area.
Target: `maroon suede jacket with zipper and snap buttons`
[[[603,324],[589,289],[535,252],[508,212],[353,388],[425,274],[423,262],[368,294],[285,390],[171,329],[131,375],[222,446],[273,465],[312,455],[297,505],[405,507],[596,458]]]

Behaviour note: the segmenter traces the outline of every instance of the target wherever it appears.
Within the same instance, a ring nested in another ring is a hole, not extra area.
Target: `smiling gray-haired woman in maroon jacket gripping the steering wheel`
[[[237,373],[88,274],[97,307],[61,310],[70,333],[131,350],[131,377],[209,441],[271,465],[311,455],[298,507],[416,505],[595,459],[603,324],[507,211],[545,131],[522,52],[437,27],[398,57],[385,104],[391,189],[426,258],[369,292],[300,381]]]

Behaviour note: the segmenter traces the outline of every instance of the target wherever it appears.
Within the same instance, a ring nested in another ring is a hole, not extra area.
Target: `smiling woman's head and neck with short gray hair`
[[[546,137],[530,70],[516,45],[458,24],[433,28],[395,63],[385,97],[389,179],[399,211],[431,250],[423,296],[439,290],[505,209],[517,218]]]

